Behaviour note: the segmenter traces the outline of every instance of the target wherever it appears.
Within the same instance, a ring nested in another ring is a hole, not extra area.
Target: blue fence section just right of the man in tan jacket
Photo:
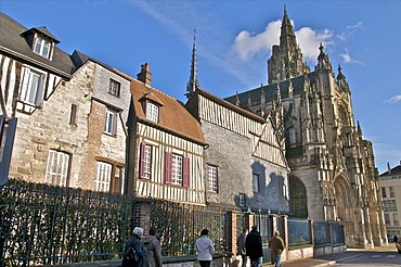
[[[288,245],[311,244],[310,220],[288,218]]]

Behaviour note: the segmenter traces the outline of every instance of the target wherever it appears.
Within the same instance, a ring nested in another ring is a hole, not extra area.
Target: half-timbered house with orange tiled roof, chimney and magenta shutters
[[[205,204],[204,150],[198,122],[178,100],[151,87],[150,65],[131,78],[127,193]]]

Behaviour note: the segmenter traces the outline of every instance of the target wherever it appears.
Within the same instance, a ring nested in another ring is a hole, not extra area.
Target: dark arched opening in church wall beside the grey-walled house
[[[307,188],[296,176],[289,176],[289,211],[294,217],[308,218]]]

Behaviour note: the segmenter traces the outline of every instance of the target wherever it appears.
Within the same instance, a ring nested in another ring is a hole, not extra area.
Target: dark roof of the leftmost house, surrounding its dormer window
[[[1,53],[38,68],[55,73],[62,77],[72,77],[75,65],[66,52],[54,47],[52,60],[46,59],[31,50],[27,39],[25,39],[23,35],[27,31],[26,27],[2,12],[0,12],[0,22]],[[57,42],[57,39],[51,35],[46,27],[31,28],[31,30],[46,34],[49,38],[53,39],[53,41]]]

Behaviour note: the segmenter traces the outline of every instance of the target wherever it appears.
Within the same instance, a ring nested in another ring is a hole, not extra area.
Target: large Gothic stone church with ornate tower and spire
[[[289,164],[295,217],[338,221],[349,247],[386,243],[373,148],[355,124],[351,92],[320,46],[314,71],[303,63],[284,11],[280,44],[268,61],[269,85],[225,100],[259,116],[271,114]]]

